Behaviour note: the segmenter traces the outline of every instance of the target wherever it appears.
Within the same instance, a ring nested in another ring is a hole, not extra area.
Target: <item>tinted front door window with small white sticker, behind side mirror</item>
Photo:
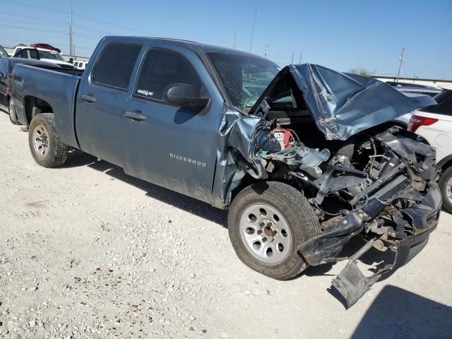
[[[201,78],[182,54],[168,49],[150,49],[141,66],[133,95],[145,99],[163,100],[163,92],[169,85],[187,83],[196,88],[199,95],[204,90]]]

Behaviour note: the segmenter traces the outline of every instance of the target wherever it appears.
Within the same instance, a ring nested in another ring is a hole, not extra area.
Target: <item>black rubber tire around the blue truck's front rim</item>
[[[239,221],[246,208],[261,203],[277,209],[293,234],[287,256],[278,263],[258,260],[246,247],[240,232]],[[249,268],[278,280],[294,278],[307,268],[308,264],[297,246],[321,232],[319,218],[307,198],[294,187],[281,182],[258,182],[240,191],[230,206],[227,227],[240,260]]]

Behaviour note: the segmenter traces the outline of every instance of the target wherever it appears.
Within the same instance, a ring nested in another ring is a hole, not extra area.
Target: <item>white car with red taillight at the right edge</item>
[[[452,90],[436,95],[436,105],[413,112],[408,130],[425,138],[436,148],[436,161],[441,168],[439,189],[443,207],[452,213]]]

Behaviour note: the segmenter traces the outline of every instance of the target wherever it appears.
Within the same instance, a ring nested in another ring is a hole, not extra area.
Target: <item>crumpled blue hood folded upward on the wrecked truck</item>
[[[278,79],[287,81],[289,72],[328,140],[346,140],[359,131],[435,103],[427,95],[407,97],[374,78],[300,64],[282,69],[254,107],[261,105],[266,93],[278,86]]]

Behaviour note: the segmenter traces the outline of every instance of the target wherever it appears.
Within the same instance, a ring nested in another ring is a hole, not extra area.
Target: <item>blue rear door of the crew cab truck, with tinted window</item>
[[[130,120],[131,75],[141,44],[109,42],[78,90],[76,129],[81,150],[124,167],[124,136]]]

